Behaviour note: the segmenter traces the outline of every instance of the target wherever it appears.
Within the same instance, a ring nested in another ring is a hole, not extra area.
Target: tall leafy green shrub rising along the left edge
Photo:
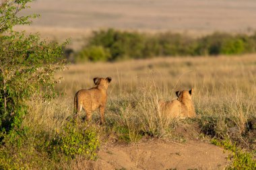
[[[19,130],[26,101],[56,95],[54,73],[64,68],[65,44],[49,44],[40,41],[37,34],[12,30],[15,25],[30,23],[33,16],[18,16],[29,1],[0,3],[0,130],[5,132]]]

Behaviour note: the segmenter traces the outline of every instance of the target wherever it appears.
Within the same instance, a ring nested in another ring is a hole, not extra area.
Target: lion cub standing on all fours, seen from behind
[[[96,77],[94,78],[96,87],[77,91],[74,98],[75,116],[84,109],[86,111],[86,120],[92,120],[92,112],[99,108],[100,123],[104,124],[104,110],[106,108],[107,89],[110,81],[111,77],[106,77],[106,79]]]

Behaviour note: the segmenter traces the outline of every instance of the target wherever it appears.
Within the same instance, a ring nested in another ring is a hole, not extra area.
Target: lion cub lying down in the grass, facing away
[[[193,118],[195,108],[191,98],[193,89],[176,91],[178,99],[172,101],[159,101],[160,112],[168,118]]]

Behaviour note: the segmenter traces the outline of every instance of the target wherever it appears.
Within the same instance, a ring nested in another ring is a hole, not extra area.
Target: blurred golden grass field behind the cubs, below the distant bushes
[[[75,91],[93,86],[94,77],[113,78],[109,103],[123,97],[173,99],[175,91],[195,89],[193,99],[199,114],[218,114],[224,105],[230,108],[247,103],[253,116],[256,87],[256,56],[218,56],[154,58],[123,62],[68,65],[59,92],[72,100]],[[70,104],[71,105],[71,101]],[[213,107],[213,106],[220,107]],[[236,108],[237,109],[237,108]],[[234,110],[238,113],[238,110]],[[244,113],[245,114],[245,113]],[[248,115],[247,115],[248,116]]]

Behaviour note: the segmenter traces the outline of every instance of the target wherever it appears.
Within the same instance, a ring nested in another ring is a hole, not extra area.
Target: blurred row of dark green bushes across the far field
[[[214,33],[201,38],[191,38],[170,32],[142,34],[113,29],[100,30],[93,33],[88,44],[75,56],[75,61],[245,54],[256,51],[255,37],[255,34],[233,36],[226,33]]]

